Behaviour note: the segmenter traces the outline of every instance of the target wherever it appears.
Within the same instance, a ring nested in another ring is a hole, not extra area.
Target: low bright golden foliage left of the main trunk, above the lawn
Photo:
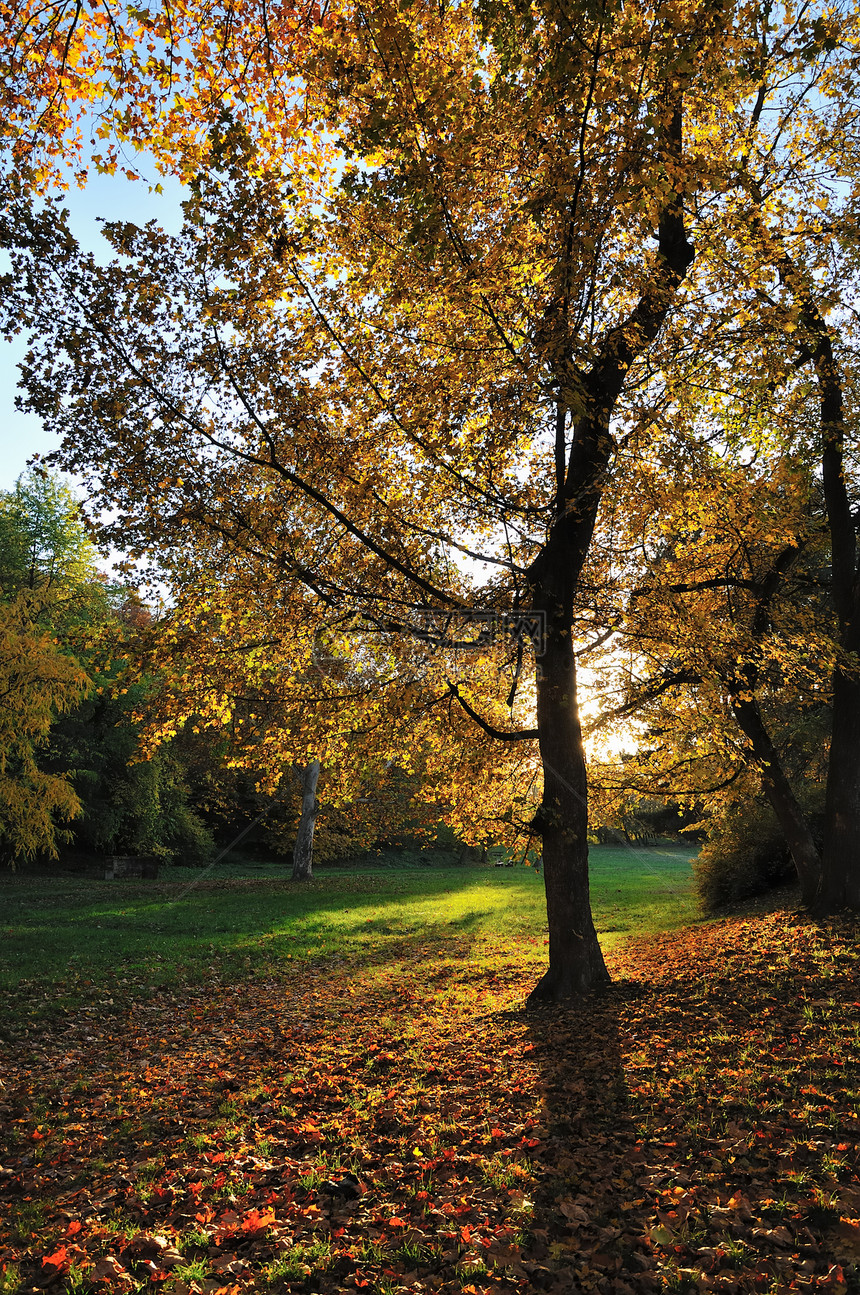
[[[534,759],[518,743],[500,756],[455,702],[452,653],[431,628],[413,642],[337,615],[321,623],[302,585],[249,585],[221,545],[194,557],[172,569],[174,600],[140,658],[158,679],[137,712],[149,751],[174,739],[218,751],[219,812],[236,794],[225,774],[250,778],[247,821],[262,815],[262,835],[281,853],[300,826],[297,778],[315,763],[322,857],[404,837],[431,843],[443,822],[464,843],[525,847]],[[504,642],[462,645],[455,660],[460,651],[473,679],[505,670]]]

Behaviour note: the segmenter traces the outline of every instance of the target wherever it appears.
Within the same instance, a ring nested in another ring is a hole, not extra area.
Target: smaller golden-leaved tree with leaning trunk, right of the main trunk
[[[633,589],[601,677],[601,724],[627,726],[629,747],[632,723],[639,750],[600,777],[617,796],[706,804],[715,826],[763,790],[813,903],[809,793],[822,787],[833,662],[821,518],[800,465],[725,460],[724,447],[692,444],[679,488],[676,452],[654,455],[635,497],[615,500]]]

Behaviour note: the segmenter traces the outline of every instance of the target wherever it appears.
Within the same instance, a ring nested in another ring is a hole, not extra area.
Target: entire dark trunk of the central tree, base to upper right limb
[[[668,111],[663,164],[681,162],[681,96]],[[544,794],[534,829],[543,838],[549,925],[549,969],[528,1002],[579,998],[609,982],[591,913],[588,884],[588,787],[574,654],[574,606],[588,556],[606,473],[615,448],[611,420],[633,363],[659,333],[690,264],[683,188],[673,189],[657,231],[657,255],[631,313],[609,329],[588,372],[575,369],[569,303],[547,329],[547,357],[556,372],[556,499],[547,541],[527,572],[532,607],[545,618],[545,650],[538,660],[538,739]],[[575,391],[567,461],[565,423]]]

